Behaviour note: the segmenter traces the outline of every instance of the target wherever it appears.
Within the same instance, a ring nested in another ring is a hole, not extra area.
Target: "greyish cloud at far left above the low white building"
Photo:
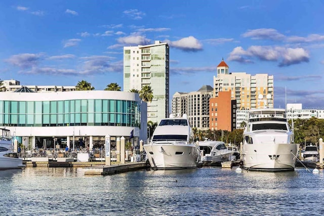
[[[6,59],[5,62],[8,62],[11,65],[20,67],[22,69],[36,66],[39,63],[39,60],[43,57],[44,54],[32,54],[32,53],[23,53],[18,55],[13,55],[9,59]]]

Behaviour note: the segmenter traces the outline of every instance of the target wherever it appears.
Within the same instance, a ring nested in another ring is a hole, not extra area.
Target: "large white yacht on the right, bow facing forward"
[[[292,136],[285,109],[250,110],[243,133],[243,168],[294,170],[299,144],[293,143]]]

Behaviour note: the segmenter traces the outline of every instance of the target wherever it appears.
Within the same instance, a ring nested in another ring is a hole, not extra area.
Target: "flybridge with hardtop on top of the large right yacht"
[[[254,109],[249,111],[249,122],[252,121],[287,121],[285,109]]]

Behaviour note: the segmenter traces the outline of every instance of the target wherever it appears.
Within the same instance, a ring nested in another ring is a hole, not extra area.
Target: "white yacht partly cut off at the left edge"
[[[0,128],[0,169],[21,168],[22,158],[14,152],[13,139],[9,129]]]

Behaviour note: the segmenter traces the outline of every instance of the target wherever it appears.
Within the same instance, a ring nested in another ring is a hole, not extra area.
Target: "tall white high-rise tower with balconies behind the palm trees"
[[[124,91],[140,91],[150,85],[152,102],[147,103],[147,120],[159,122],[169,116],[169,45],[156,40],[152,45],[124,47]]]

